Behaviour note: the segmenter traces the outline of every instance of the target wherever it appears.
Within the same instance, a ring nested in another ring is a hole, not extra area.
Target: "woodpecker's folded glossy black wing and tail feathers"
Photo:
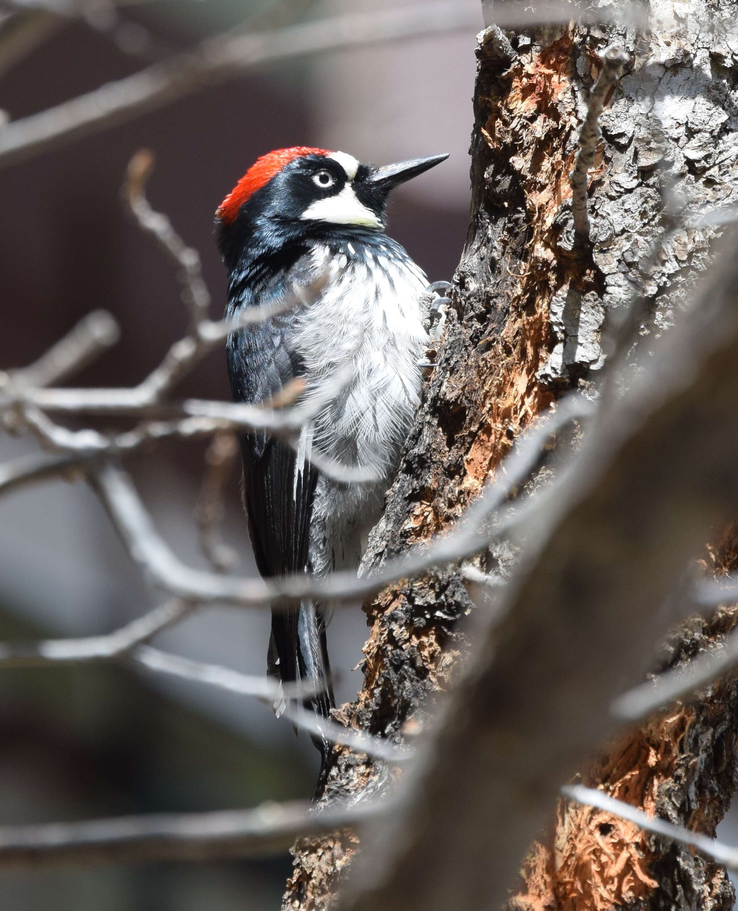
[[[288,281],[303,280],[306,269],[305,261],[298,260],[288,271]],[[229,338],[228,374],[236,402],[268,401],[304,374],[304,365],[289,351],[288,326],[289,312]],[[308,569],[318,473],[306,465],[296,478],[293,449],[263,432],[243,434],[240,439],[244,502],[258,571],[264,578],[303,572]],[[321,689],[310,702],[323,717],[329,716],[333,699],[325,624],[314,605],[303,602],[299,609],[272,611],[268,670],[286,683],[302,680]],[[319,745],[323,750],[324,745]]]

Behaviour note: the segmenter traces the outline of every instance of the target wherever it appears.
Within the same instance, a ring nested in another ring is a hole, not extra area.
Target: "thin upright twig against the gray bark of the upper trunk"
[[[581,125],[579,151],[571,171],[571,211],[574,216],[574,232],[580,243],[590,238],[590,219],[587,214],[588,174],[594,164],[597,143],[602,138],[600,116],[610,90],[620,78],[622,67],[629,59],[619,45],[611,45],[602,51],[602,69],[591,90],[590,107]]]

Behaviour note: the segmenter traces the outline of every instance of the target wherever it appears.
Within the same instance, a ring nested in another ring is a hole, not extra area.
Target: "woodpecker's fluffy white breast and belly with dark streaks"
[[[318,302],[301,313],[290,347],[305,363],[308,397],[336,384],[344,368],[352,377],[308,428],[306,455],[316,447],[348,465],[389,474],[420,402],[426,284],[418,266],[389,261],[383,251],[369,261],[349,257]]]

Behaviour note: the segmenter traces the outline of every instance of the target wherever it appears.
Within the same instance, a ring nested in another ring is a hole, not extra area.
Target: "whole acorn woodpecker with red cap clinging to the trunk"
[[[260,432],[241,436],[244,501],[262,577],[359,566],[420,402],[429,343],[421,303],[428,281],[384,233],[387,200],[391,189],[446,158],[376,168],[345,152],[282,148],[258,159],[217,210],[227,317],[319,287],[312,299],[227,339],[236,402],[274,400],[300,379],[300,402],[313,396],[321,403],[293,445]],[[338,382],[347,368],[348,379]],[[312,466],[316,453],[368,468],[375,480],[338,481]],[[273,610],[268,648],[269,674],[306,686],[306,703],[324,718],[335,704],[328,609],[303,601]],[[329,743],[313,741],[325,766]]]

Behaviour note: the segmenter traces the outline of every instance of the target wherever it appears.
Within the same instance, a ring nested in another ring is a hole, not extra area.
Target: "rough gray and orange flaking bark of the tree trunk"
[[[629,362],[647,357],[650,339],[668,329],[709,264],[711,230],[685,221],[701,207],[738,200],[738,16],[733,0],[653,0],[650,13],[651,32],[491,26],[480,36],[470,230],[453,309],[364,571],[449,527],[542,408],[572,387],[593,393],[607,360],[603,324],[641,294],[647,305]],[[601,120],[591,242],[577,244],[570,172],[598,54],[613,42],[630,63]],[[681,226],[664,205],[671,193]],[[479,564],[504,572],[507,558],[502,549]],[[738,565],[734,536],[713,560],[719,571]],[[456,624],[470,597],[458,568],[447,568],[390,586],[365,609],[364,685],[336,715],[401,738],[452,678],[465,648]],[[736,621],[738,610],[721,609],[683,624],[660,667],[719,647]],[[738,685],[723,681],[696,705],[664,711],[610,744],[582,779],[714,834],[738,778],[737,709]],[[382,763],[336,748],[321,803],[366,796],[388,777]],[[298,842],[283,907],[329,907],[357,846],[349,832]],[[560,806],[555,831],[531,849],[511,898],[520,911],[732,903],[719,868],[569,804]]]

